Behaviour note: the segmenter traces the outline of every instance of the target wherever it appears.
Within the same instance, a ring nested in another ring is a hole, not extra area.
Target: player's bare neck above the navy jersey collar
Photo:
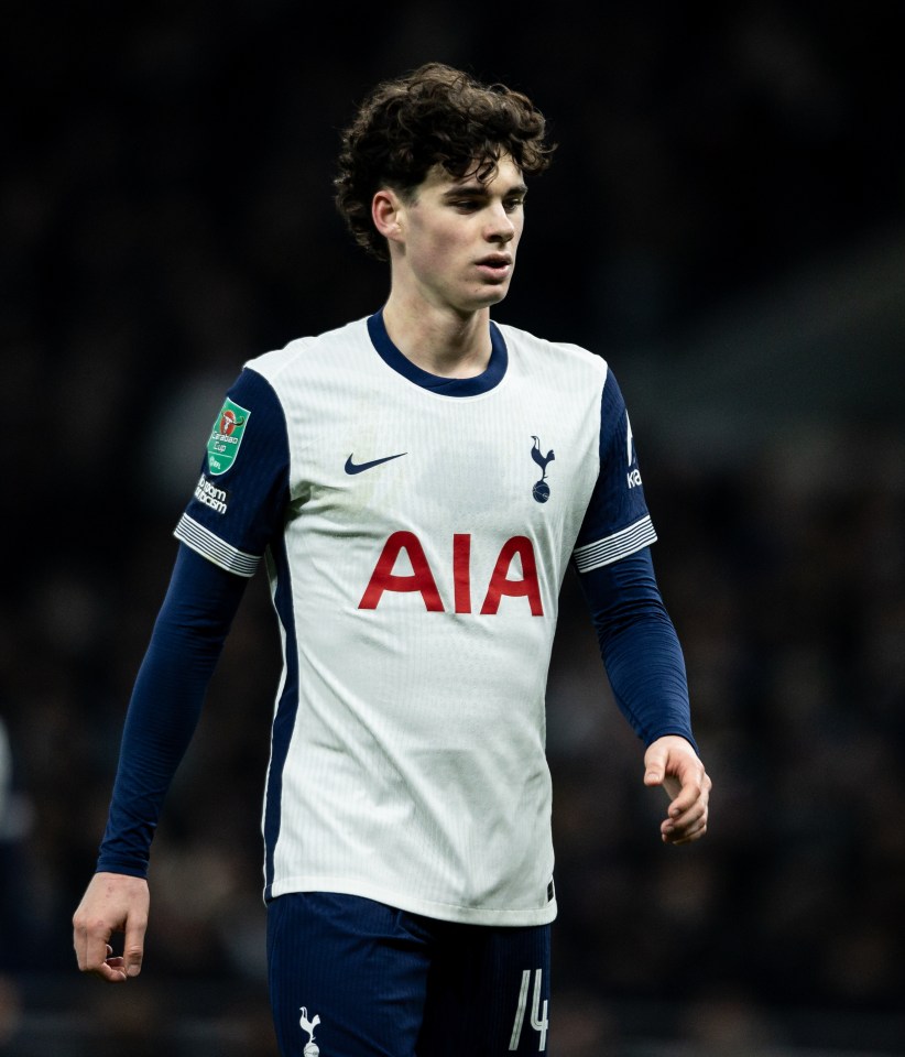
[[[475,378],[490,362],[490,308],[460,315],[422,303],[414,310],[391,294],[383,323],[400,352],[430,374]]]

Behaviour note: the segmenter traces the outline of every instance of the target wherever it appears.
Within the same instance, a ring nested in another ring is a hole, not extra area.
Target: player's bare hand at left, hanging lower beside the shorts
[[[148,882],[122,873],[96,873],[73,915],[73,940],[81,972],[121,983],[141,972],[151,896]],[[110,938],[124,934],[122,957]]]

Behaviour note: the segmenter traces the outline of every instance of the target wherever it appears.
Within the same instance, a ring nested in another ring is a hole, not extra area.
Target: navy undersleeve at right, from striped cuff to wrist
[[[645,745],[691,733],[685,658],[650,547],[578,577],[613,696]]]

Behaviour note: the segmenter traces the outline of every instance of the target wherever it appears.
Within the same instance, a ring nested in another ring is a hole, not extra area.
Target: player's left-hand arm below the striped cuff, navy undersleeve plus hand
[[[83,972],[115,983],[141,971],[151,840],[246,584],[179,546],[129,704],[98,872],[73,918]],[[126,937],[121,958],[113,933]]]

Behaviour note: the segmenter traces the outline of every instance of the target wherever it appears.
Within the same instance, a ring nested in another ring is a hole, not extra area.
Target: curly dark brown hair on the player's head
[[[544,116],[520,91],[483,85],[443,63],[426,63],[379,84],[342,132],[336,206],[356,242],[386,260],[386,240],[371,220],[380,187],[411,198],[434,165],[456,178],[491,179],[509,154],[526,176],[543,173],[555,144]]]

